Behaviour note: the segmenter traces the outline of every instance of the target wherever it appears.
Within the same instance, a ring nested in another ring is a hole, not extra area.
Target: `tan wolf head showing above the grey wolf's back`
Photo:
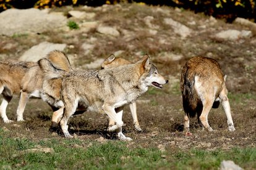
[[[122,58],[116,58],[114,56],[114,54],[111,54],[108,59],[106,59],[102,64],[101,64],[101,69],[108,69],[108,68],[116,68],[119,67],[121,65],[126,65],[126,64],[130,64],[131,62],[129,62],[126,59],[122,59]]]

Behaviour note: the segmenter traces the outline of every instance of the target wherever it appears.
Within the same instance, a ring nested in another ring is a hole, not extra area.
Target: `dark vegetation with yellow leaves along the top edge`
[[[0,0],[0,12],[9,8],[27,9],[35,7],[44,9],[61,6],[102,6],[103,4],[117,4],[122,2],[140,2],[153,6],[172,6],[182,9],[203,12],[216,18],[224,18],[233,22],[236,17],[248,18],[256,21],[256,0]]]

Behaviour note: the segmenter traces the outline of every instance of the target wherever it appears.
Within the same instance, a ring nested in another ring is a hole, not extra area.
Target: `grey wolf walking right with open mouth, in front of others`
[[[64,103],[64,115],[60,121],[65,137],[69,134],[67,121],[82,105],[87,110],[103,110],[116,124],[109,131],[117,131],[121,140],[132,140],[122,134],[122,111],[124,105],[134,102],[148,90],[149,86],[158,89],[168,83],[150,63],[148,55],[134,64],[103,70],[73,70],[61,75],[47,59],[40,64],[48,67],[51,78],[62,78],[61,100]]]

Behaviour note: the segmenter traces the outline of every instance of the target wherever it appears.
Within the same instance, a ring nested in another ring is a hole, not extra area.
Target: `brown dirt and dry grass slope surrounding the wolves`
[[[222,30],[250,30],[250,28],[237,23],[224,23],[222,20],[216,20],[216,23],[211,25],[209,17],[203,14],[193,14],[190,11],[179,11],[169,7],[162,7],[168,11],[168,14],[152,12],[157,8],[159,7],[124,5],[122,13],[120,13],[120,7],[117,6],[109,7],[109,10],[104,11],[90,9],[90,12],[96,13],[95,20],[99,20],[105,25],[117,26],[121,32],[124,29],[136,30],[137,32],[132,34],[132,38],[129,39],[122,36],[120,38],[104,36],[96,33],[96,30],[90,30],[87,33],[81,33],[79,30],[66,33],[53,30],[40,35],[28,34],[25,37],[1,36],[1,58],[17,59],[17,56],[20,56],[24,51],[46,39],[51,42],[64,42],[69,46],[74,46],[74,48],[67,50],[67,54],[77,56],[74,59],[74,68],[84,68],[84,64],[98,58],[106,58],[109,54],[119,50],[124,51],[122,57],[132,62],[140,59],[143,53],[148,53],[158,71],[169,79],[169,84],[163,89],[150,87],[149,91],[137,100],[137,113],[140,126],[143,129],[142,132],[135,131],[129,107],[125,108],[123,131],[127,137],[134,140],[130,142],[130,147],[140,145],[142,147],[181,148],[182,150],[192,147],[207,150],[255,147],[255,34],[252,33],[252,36],[247,39],[225,41],[216,38],[215,33]],[[53,10],[67,12],[68,9],[63,7]],[[153,24],[160,26],[160,28],[156,28],[158,33],[155,35],[147,34],[144,31],[147,25],[145,25],[143,18],[148,15],[154,17]],[[186,39],[181,39],[174,33],[174,30],[168,28],[161,22],[161,19],[158,19],[168,17],[175,18],[177,21],[190,26],[194,33]],[[189,21],[194,21],[195,25],[189,25]],[[205,26],[203,27],[203,25]],[[63,34],[66,34],[65,38]],[[89,42],[92,38],[96,38],[94,49],[84,55],[80,44]],[[31,39],[33,41],[30,41]],[[7,49],[4,48],[6,44],[13,44],[13,46]],[[179,60],[171,60],[165,56],[166,52],[183,57]],[[192,136],[184,136],[182,132],[184,111],[179,78],[182,65],[195,55],[203,55],[218,60],[223,72],[228,75],[227,87],[234,126],[236,127],[235,132],[228,131],[226,115],[220,106],[218,109],[211,109],[208,118],[211,127],[216,131],[203,131],[197,125],[197,119],[191,119]],[[7,107],[9,119],[17,119],[15,111],[18,100],[17,97],[14,98]],[[51,108],[42,100],[30,99],[24,112],[25,121],[5,124],[1,120],[0,127],[12,131],[12,137],[26,137],[32,140],[61,139],[63,137],[61,134],[49,132],[51,114]],[[107,126],[107,116],[95,112],[74,116],[69,121],[70,132],[77,134],[77,138],[84,140],[95,140],[101,136],[115,140],[113,134],[106,133]]]

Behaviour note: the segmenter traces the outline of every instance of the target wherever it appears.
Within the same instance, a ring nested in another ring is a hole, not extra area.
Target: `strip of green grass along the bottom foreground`
[[[106,143],[80,139],[11,138],[0,128],[0,169],[218,169],[223,160],[242,168],[256,168],[256,148],[207,151],[127,147],[126,142]],[[75,147],[79,146],[79,147]],[[30,148],[53,148],[53,153],[23,152]],[[162,156],[166,155],[166,156]]]

